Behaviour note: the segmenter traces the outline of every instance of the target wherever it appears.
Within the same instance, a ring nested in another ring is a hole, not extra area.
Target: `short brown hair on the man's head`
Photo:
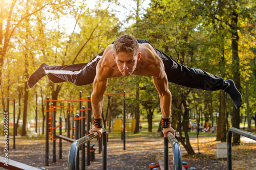
[[[124,53],[131,53],[133,52],[134,56],[137,56],[139,54],[139,43],[131,35],[121,35],[118,37],[114,42],[114,51],[115,55],[117,55],[120,52]]]

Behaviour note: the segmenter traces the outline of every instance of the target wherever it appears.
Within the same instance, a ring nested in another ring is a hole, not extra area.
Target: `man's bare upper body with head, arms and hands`
[[[123,46],[123,39],[117,39],[114,44],[105,48],[103,56],[96,67],[96,77],[93,84],[92,108],[95,119],[101,118],[103,94],[108,84],[108,78],[121,76],[152,76],[154,85],[159,93],[160,107],[163,121],[169,120],[172,95],[168,89],[164,64],[156,54],[154,48],[148,44],[138,44],[134,38],[134,45]],[[127,38],[125,38],[127,40]],[[143,54],[143,55],[142,55]],[[102,133],[96,126],[90,131]],[[167,132],[175,133],[171,127],[163,128],[164,137]]]

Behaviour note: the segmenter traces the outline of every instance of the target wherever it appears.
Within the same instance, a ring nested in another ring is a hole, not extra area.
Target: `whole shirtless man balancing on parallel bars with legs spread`
[[[90,133],[98,132],[100,137],[102,100],[108,79],[130,75],[152,76],[160,98],[164,137],[167,137],[167,132],[176,132],[170,127],[172,94],[168,82],[197,89],[224,90],[237,109],[242,105],[242,96],[232,80],[225,81],[202,69],[181,65],[154,48],[147,40],[135,39],[130,35],[118,37],[88,63],[60,66],[43,63],[29,77],[28,86],[33,87],[44,76],[48,76],[54,83],[68,81],[78,86],[94,83],[91,100],[95,126]]]

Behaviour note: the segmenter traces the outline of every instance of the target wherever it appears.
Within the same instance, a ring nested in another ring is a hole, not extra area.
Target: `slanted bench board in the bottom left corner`
[[[41,170],[41,169],[44,169],[44,168],[36,168],[36,167],[33,167],[33,166],[30,166],[30,165],[27,165],[27,164],[24,164],[24,163],[20,163],[20,162],[17,162],[17,161],[14,161],[14,160],[11,160],[11,159],[8,159],[8,166],[5,165],[6,162],[4,161],[4,157],[0,156],[0,167],[4,167],[5,169],[11,169],[11,170]]]

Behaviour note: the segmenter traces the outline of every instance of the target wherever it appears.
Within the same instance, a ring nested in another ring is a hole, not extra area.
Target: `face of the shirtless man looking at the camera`
[[[141,53],[139,53],[138,56],[134,56],[133,52],[119,52],[116,56],[113,54],[118,70],[123,76],[130,76],[133,74],[137,66],[137,62],[140,60],[140,56]]]

